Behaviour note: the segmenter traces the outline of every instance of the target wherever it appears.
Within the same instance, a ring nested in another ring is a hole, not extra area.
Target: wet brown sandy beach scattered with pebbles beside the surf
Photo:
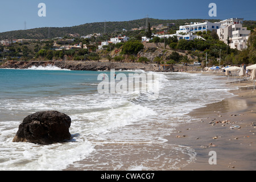
[[[196,161],[180,170],[256,169],[256,90],[232,92],[235,97],[193,110],[189,115],[196,121],[177,127],[176,133],[167,138],[169,143],[189,146],[197,153]],[[216,152],[216,164],[209,164],[210,151]]]

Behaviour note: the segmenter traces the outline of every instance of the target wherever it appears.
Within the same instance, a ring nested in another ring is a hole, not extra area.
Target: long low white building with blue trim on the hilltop
[[[191,23],[184,26],[180,26],[180,29],[176,31],[177,34],[188,32],[199,32],[199,31],[217,31],[218,28],[220,28],[221,23],[220,22],[203,22],[203,23]]]

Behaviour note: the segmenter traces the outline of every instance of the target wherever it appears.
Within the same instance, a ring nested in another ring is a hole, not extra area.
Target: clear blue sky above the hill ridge
[[[39,3],[46,16],[39,16]],[[209,16],[210,3],[217,16]],[[0,32],[40,27],[71,27],[93,22],[155,19],[256,20],[255,0],[0,0]]]

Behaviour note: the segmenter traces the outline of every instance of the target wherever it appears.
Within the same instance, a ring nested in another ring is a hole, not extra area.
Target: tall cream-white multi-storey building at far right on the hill
[[[247,40],[251,33],[250,30],[247,30],[247,27],[242,27],[241,18],[230,18],[221,21],[221,27],[217,30],[217,34],[221,41],[228,44],[230,48],[237,48],[242,50],[247,48]]]

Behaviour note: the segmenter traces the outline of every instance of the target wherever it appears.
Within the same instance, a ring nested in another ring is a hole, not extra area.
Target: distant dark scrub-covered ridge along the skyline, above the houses
[[[202,22],[205,19],[178,19],[178,20],[163,20],[163,19],[152,19],[149,18],[151,26],[156,26],[158,24],[175,23],[174,30],[177,30],[180,25],[190,22]],[[209,22],[216,22],[218,20],[209,19]],[[59,36],[69,36],[69,34],[79,34],[80,36],[93,34],[93,33],[103,33],[104,32],[105,22],[97,23],[86,23],[79,26],[73,27],[43,27],[43,28],[34,28],[30,30],[17,30],[0,33],[0,40],[3,39],[48,39],[56,38]],[[145,27],[146,18],[138,20],[130,20],[125,22],[106,22],[106,32],[116,32],[122,31],[123,28],[126,30],[131,30],[132,28]]]

